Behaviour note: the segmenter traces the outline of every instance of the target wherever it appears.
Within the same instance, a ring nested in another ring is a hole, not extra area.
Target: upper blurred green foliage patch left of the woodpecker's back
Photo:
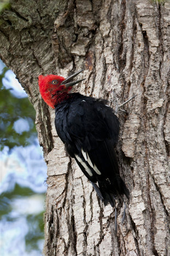
[[[9,149],[14,146],[27,146],[37,137],[35,128],[35,110],[29,99],[18,99],[2,84],[2,79],[8,68],[4,68],[0,75],[0,150],[4,146]],[[15,121],[24,118],[28,123],[28,130],[17,133],[14,129]]]

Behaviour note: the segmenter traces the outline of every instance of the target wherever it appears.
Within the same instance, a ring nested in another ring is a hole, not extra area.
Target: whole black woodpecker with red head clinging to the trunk
[[[43,100],[55,109],[56,132],[67,153],[76,160],[104,205],[110,203],[115,207],[117,197],[126,195],[129,199],[115,152],[120,124],[107,101],[70,93],[73,85],[84,80],[73,81],[82,71],[66,79],[39,75],[39,91]]]

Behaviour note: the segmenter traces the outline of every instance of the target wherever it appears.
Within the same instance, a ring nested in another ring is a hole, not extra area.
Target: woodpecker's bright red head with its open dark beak
[[[59,75],[39,75],[39,91],[43,100],[50,107],[55,108],[59,102],[67,99],[69,96],[68,93],[72,89],[72,86],[84,80],[72,81],[73,78],[75,78],[80,72],[82,72],[82,70],[70,75],[70,77],[66,79],[64,77],[59,77]]]

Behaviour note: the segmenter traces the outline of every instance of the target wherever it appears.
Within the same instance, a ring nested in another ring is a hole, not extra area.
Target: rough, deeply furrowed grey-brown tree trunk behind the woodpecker
[[[169,63],[170,1],[18,0],[0,20],[0,57],[36,109],[39,143],[48,165],[44,254],[170,255]],[[137,94],[119,113],[117,155],[131,191],[126,220],[104,208],[64,151],[54,111],[42,101],[39,74],[84,68],[75,88],[112,107]]]

